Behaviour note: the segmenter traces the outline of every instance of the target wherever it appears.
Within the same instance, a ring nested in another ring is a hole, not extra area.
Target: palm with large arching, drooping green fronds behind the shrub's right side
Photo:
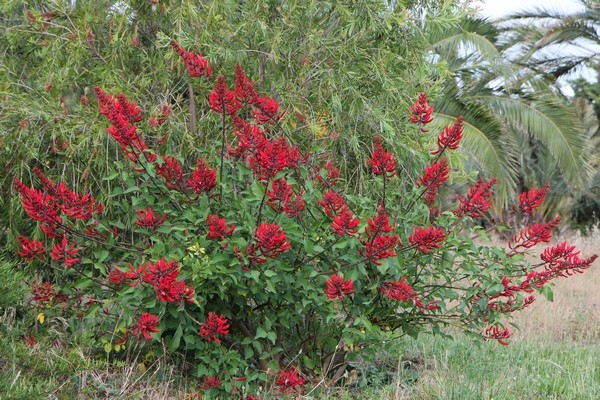
[[[439,62],[453,72],[437,101],[438,121],[465,116],[464,150],[499,179],[501,205],[550,175],[564,176],[571,191],[584,187],[590,151],[575,110],[543,76],[507,61],[502,33],[481,19],[431,32]]]

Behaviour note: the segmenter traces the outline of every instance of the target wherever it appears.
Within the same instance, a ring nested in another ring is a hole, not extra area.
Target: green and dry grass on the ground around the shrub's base
[[[598,231],[568,241],[585,256],[600,248]],[[599,399],[599,287],[599,265],[558,280],[553,303],[539,297],[515,315],[520,330],[512,330],[509,346],[461,334],[404,338],[382,346],[374,361],[355,363],[346,386],[318,388],[304,398]],[[0,400],[181,399],[199,384],[178,374],[173,360],[135,349],[126,361],[109,362],[85,344],[64,348],[52,335],[28,349],[11,318],[0,321]]]

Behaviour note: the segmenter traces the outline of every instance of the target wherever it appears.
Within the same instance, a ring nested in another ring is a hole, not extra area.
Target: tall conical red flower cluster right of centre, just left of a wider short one
[[[380,205],[375,218],[367,218],[366,238],[360,241],[365,247],[359,249],[360,255],[375,265],[381,265],[380,260],[384,258],[396,256],[395,249],[401,241],[398,235],[386,235],[392,230],[388,215]]]

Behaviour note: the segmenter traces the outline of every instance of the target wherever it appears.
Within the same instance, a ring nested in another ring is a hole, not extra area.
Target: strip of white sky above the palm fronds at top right
[[[537,7],[564,11],[565,13],[572,13],[581,9],[581,4],[576,0],[479,0],[479,3],[481,15],[492,19]]]

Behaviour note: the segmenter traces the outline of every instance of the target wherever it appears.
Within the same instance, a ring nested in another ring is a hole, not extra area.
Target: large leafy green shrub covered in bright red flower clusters
[[[207,85],[207,59],[172,47]],[[197,160],[147,143],[143,128],[156,116],[145,121],[125,95],[95,89],[106,131],[131,162],[116,162],[104,178],[120,182],[110,216],[93,196],[41,171],[31,186],[15,179],[41,229],[39,238],[19,237],[19,254],[52,271],[51,281],[32,283],[38,311],[102,328],[109,351],[131,341],[186,351],[204,395],[250,399],[247,388],[257,385],[299,394],[313,379],[340,376],[334,360],[386,332],[453,325],[507,344],[503,316],[596,258],[562,243],[540,261],[525,259],[559,218],[524,227],[506,248],[475,244],[473,235],[486,233],[473,219],[492,205],[493,178],[476,182],[455,209],[438,208],[462,118],[441,131],[434,158],[406,191],[398,160],[374,138],[373,190],[357,196],[344,191],[332,160],[290,143],[276,100],[261,96],[239,66],[235,78],[229,88],[218,75],[207,96],[220,141],[199,149]],[[411,110],[427,133],[426,95]],[[532,189],[513,212],[532,213],[545,193]]]

